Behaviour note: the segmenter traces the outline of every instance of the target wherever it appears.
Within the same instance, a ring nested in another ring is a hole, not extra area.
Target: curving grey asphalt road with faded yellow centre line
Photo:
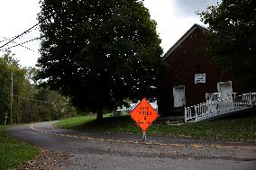
[[[147,137],[59,130],[52,122],[20,125],[8,132],[41,148],[70,154],[54,169],[256,170],[256,143]]]

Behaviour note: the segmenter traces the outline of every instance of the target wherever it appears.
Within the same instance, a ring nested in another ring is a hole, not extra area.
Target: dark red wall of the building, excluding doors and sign
[[[213,64],[213,56],[204,52],[207,46],[204,31],[197,27],[165,58],[167,67],[160,75],[158,98],[161,115],[172,114],[173,86],[185,85],[186,105],[191,106],[206,102],[206,93],[217,92],[218,82],[232,81],[229,74]],[[195,85],[195,75],[201,73],[206,73],[206,84]],[[233,82],[233,92],[238,91]]]

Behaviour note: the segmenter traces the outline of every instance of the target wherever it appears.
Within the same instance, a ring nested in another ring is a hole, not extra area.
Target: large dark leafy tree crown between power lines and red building
[[[38,78],[102,119],[123,98],[155,96],[156,22],[141,0],[41,1]]]

